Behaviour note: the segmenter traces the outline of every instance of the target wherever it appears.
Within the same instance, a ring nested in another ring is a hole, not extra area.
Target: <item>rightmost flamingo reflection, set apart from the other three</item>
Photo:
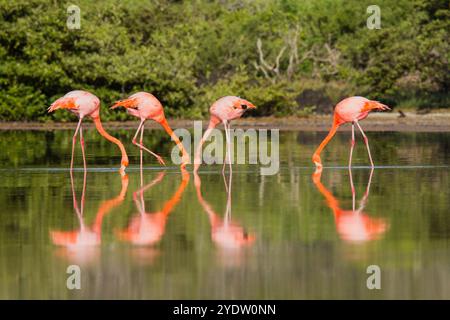
[[[369,197],[370,184],[374,169],[370,171],[369,181],[367,183],[366,192],[361,198],[358,209],[356,209],[356,192],[353,185],[352,171],[349,169],[350,187],[352,190],[352,210],[343,210],[339,206],[339,201],[333,194],[325,188],[320,181],[322,170],[316,170],[313,174],[313,182],[317,189],[325,197],[328,206],[333,210],[336,230],[339,236],[348,242],[364,242],[379,239],[388,229],[388,223],[385,219],[371,218],[363,212]]]

